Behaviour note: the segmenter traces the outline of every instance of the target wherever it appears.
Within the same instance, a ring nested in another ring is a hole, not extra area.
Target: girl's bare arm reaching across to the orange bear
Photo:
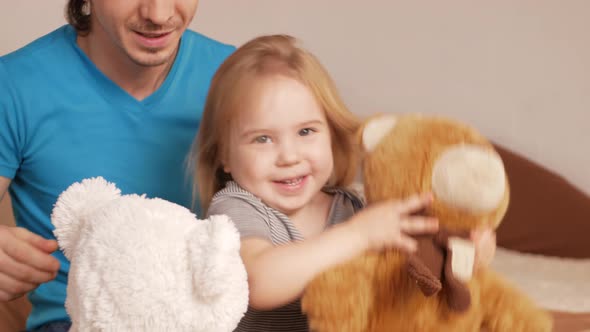
[[[406,234],[437,230],[436,220],[411,216],[429,202],[429,196],[415,196],[375,204],[303,242],[274,246],[260,238],[244,238],[241,256],[248,272],[250,306],[270,310],[293,302],[317,274],[366,250],[414,250],[415,241]]]

